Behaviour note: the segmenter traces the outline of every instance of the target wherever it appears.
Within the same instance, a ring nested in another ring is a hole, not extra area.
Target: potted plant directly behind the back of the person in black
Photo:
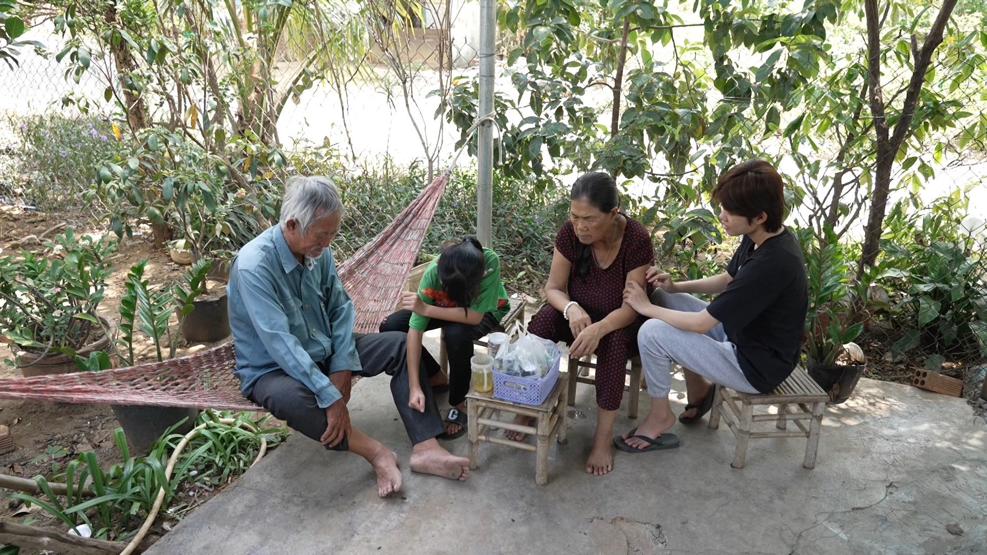
[[[831,403],[843,403],[853,394],[867,369],[867,358],[854,341],[864,330],[859,314],[866,299],[847,278],[850,265],[844,248],[830,229],[822,238],[811,230],[798,231],[808,283],[805,320],[805,355],[808,374],[829,394]]]

